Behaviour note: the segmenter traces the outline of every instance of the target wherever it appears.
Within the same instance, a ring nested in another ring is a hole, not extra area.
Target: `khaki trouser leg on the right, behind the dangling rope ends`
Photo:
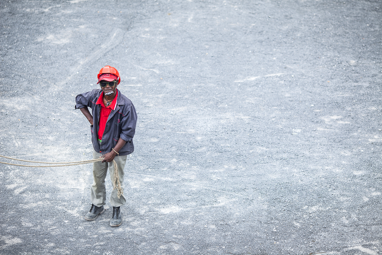
[[[125,188],[123,178],[125,177],[124,169],[126,165],[126,159],[127,159],[127,155],[116,156],[114,158],[115,163],[117,163],[117,167],[118,167],[118,175],[119,175],[122,191]],[[109,163],[109,171],[110,171],[110,179],[112,180],[112,183],[113,183],[114,181],[114,163],[113,162]],[[120,198],[118,198],[117,194],[118,194],[118,190],[112,190],[112,195],[110,196],[110,204],[114,207],[123,206],[124,204],[126,204],[125,196],[122,194]]]

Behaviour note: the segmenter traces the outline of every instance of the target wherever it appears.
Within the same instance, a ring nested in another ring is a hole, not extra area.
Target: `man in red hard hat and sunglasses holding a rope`
[[[107,170],[113,186],[114,175],[120,188],[113,189],[110,204],[113,206],[110,226],[122,224],[120,206],[126,203],[123,195],[123,178],[126,158],[134,151],[133,137],[137,122],[137,113],[133,103],[117,89],[121,77],[114,67],[105,66],[97,75],[100,89],[94,89],[76,96],[75,109],[80,109],[91,124],[93,159],[103,158],[102,162],[93,163],[94,182],[91,186],[91,208],[85,215],[87,221],[92,221],[104,212],[106,204],[105,178]],[[89,112],[88,107],[92,109]],[[113,160],[117,163],[114,169]],[[119,185],[119,183],[118,183]]]

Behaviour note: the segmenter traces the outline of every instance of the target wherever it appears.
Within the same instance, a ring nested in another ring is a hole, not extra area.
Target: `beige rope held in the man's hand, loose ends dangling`
[[[100,159],[89,159],[89,160],[74,161],[74,162],[41,162],[41,161],[31,161],[31,160],[24,160],[24,159],[14,159],[14,158],[6,157],[3,155],[0,155],[0,157],[6,158],[6,159],[11,159],[11,160],[31,162],[31,163],[39,163],[39,164],[60,164],[60,165],[20,165],[20,164],[13,164],[13,163],[0,161],[0,163],[6,164],[6,165],[17,165],[19,167],[66,167],[69,165],[82,165],[82,164],[102,161],[102,158],[100,158]],[[121,183],[119,180],[117,162],[115,162],[115,160],[113,160],[113,164],[114,164],[113,190],[118,191],[117,196],[118,196],[118,198],[120,198],[121,195],[123,194],[123,190],[121,188]]]

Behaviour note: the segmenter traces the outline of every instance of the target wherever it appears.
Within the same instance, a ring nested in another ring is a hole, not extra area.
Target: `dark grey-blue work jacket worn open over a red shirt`
[[[118,89],[117,89],[118,90]],[[92,108],[93,125],[91,125],[92,143],[96,152],[106,154],[115,147],[118,139],[123,139],[126,144],[120,149],[119,155],[128,155],[134,151],[133,137],[137,123],[137,113],[133,103],[118,90],[117,106],[112,110],[107,118],[105,131],[102,136],[101,145],[98,143],[99,116],[101,106],[96,105],[101,89],[94,89],[90,92],[76,96],[75,109]]]

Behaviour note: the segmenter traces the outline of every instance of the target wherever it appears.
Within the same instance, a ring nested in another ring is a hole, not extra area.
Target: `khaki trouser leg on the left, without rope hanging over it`
[[[99,159],[102,154],[93,149],[93,159]],[[93,163],[93,184],[90,193],[90,200],[95,206],[103,206],[106,204],[106,187],[105,178],[107,175],[107,162],[94,162]]]

